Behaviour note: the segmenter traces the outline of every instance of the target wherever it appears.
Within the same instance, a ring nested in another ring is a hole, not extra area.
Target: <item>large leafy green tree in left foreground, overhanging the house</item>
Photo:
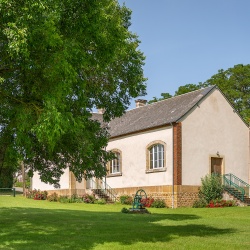
[[[0,0],[1,153],[55,185],[67,166],[105,175],[108,131],[91,113],[108,122],[146,89],[130,17],[116,0]]]

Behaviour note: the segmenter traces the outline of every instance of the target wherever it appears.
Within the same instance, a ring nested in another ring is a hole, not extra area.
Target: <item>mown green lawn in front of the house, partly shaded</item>
[[[123,207],[0,196],[0,249],[250,249],[250,207]]]

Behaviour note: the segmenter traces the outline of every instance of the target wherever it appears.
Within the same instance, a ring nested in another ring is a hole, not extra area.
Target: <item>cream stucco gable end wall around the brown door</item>
[[[224,173],[248,182],[249,129],[219,90],[182,121],[182,184],[200,185],[210,157],[224,158]]]

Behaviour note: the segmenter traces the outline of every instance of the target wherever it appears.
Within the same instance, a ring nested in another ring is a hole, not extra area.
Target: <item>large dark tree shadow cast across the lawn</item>
[[[167,243],[174,237],[212,237],[235,232],[232,228],[196,224],[199,219],[192,214],[1,208],[0,249],[93,249],[104,243]]]

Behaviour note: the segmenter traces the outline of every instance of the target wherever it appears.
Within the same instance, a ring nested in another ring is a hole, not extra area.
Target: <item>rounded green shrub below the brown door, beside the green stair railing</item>
[[[201,187],[199,190],[200,199],[204,199],[209,203],[211,200],[221,199],[222,193],[223,185],[220,175],[209,174],[201,178]]]

